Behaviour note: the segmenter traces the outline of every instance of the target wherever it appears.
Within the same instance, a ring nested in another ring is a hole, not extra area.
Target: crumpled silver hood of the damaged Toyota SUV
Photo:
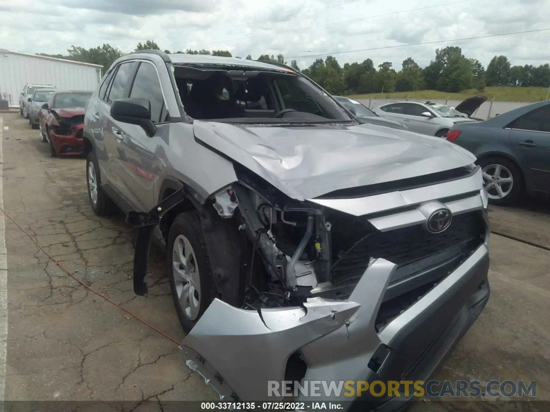
[[[298,200],[459,168],[476,159],[439,137],[371,125],[274,127],[195,120],[193,126],[197,140]]]

